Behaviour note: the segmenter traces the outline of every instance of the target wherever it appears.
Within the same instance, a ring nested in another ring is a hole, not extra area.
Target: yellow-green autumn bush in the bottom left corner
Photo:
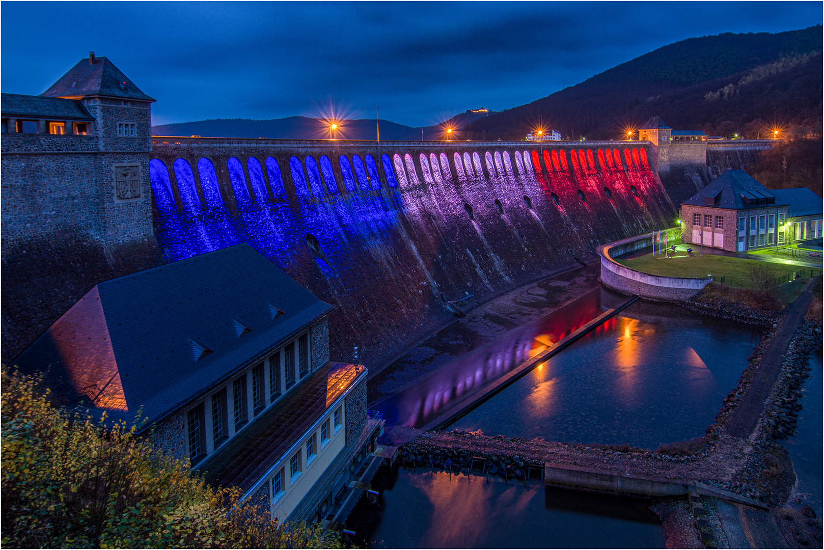
[[[340,548],[210,487],[134,426],[52,407],[40,384],[2,371],[4,548]]]

